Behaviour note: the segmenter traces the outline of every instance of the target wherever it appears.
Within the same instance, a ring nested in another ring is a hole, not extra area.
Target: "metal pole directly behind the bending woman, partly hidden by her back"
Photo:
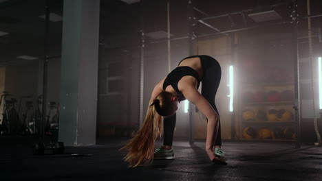
[[[189,45],[189,56],[193,55],[193,2],[192,0],[188,1],[188,45]],[[193,104],[189,102],[189,143],[193,145],[194,136],[193,136]]]

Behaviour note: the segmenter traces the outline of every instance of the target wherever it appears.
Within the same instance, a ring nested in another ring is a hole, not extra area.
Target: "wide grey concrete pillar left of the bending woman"
[[[65,0],[58,140],[96,143],[99,0]]]

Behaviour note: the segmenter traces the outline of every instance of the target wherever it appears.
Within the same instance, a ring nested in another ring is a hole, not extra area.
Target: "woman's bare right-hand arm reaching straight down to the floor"
[[[213,110],[211,107],[211,104],[209,104],[209,102],[197,91],[194,86],[185,86],[182,89],[182,94],[208,119],[206,152],[209,159],[213,161],[216,158],[215,154],[213,153],[213,144],[215,143],[215,136],[218,132],[219,117],[215,110]]]

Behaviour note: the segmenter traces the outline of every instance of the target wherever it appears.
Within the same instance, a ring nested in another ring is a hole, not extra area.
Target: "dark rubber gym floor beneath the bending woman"
[[[204,142],[174,143],[175,160],[129,168],[118,152],[125,139],[66,147],[63,155],[33,156],[32,139],[1,138],[0,180],[321,180],[322,147],[275,142],[224,142],[228,165],[213,165]],[[156,143],[159,146],[160,143]],[[74,157],[72,154],[83,154]],[[92,154],[92,156],[89,156]]]

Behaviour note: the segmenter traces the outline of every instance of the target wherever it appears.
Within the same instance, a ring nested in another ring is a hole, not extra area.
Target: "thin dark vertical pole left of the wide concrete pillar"
[[[43,117],[41,120],[41,141],[43,141],[44,125],[46,121],[46,106],[47,106],[47,63],[48,63],[48,40],[50,28],[50,7],[49,0],[46,0],[45,5],[45,40],[44,40],[44,62],[43,62]]]

